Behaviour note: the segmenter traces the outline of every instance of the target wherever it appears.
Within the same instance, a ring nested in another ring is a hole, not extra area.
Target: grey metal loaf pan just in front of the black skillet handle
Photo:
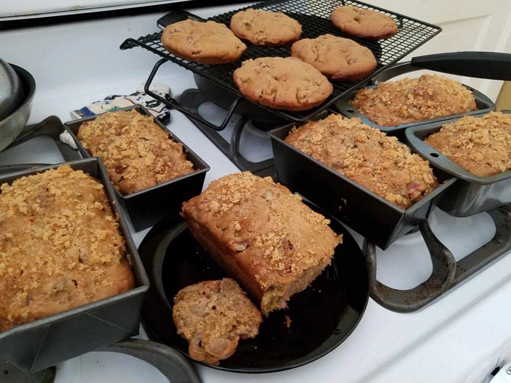
[[[388,69],[382,71],[382,73],[380,73],[376,77],[374,77],[371,80],[371,83],[373,85],[366,86],[366,89],[376,88],[378,86],[378,83],[380,83],[380,82],[385,82],[385,81],[388,81],[396,76],[400,76],[405,73],[410,73],[410,72],[413,72],[416,70],[424,70],[424,68],[416,67],[416,66],[412,65],[411,62],[403,62],[403,63],[394,64],[391,67],[389,67]],[[447,116],[439,116],[439,117],[435,117],[435,118],[428,118],[428,119],[423,119],[422,121],[415,121],[415,122],[396,125],[396,126],[381,126],[381,125],[378,125],[375,122],[371,121],[369,118],[367,118],[365,115],[363,115],[362,112],[360,112],[357,108],[350,105],[350,101],[353,100],[353,98],[355,97],[355,94],[360,89],[355,89],[355,90],[351,91],[350,93],[346,94],[345,97],[343,97],[341,100],[339,100],[338,102],[335,103],[335,107],[343,115],[350,117],[350,118],[354,118],[354,117],[360,118],[364,124],[367,124],[374,128],[378,128],[381,131],[389,133],[389,134],[402,132],[406,128],[409,128],[411,126],[424,125],[424,124],[436,123],[436,122],[445,122],[445,121],[448,121],[449,119],[473,115],[473,114],[487,113],[487,112],[490,112],[490,111],[496,109],[494,102],[492,100],[490,100],[488,97],[486,97],[486,95],[484,95],[480,91],[472,88],[471,86],[464,85],[464,84],[461,84],[461,85],[463,85],[464,87],[466,87],[468,90],[470,90],[472,92],[472,95],[474,96],[474,99],[476,102],[477,110],[473,110],[473,111],[465,112],[465,113],[459,113],[459,114],[450,114]]]

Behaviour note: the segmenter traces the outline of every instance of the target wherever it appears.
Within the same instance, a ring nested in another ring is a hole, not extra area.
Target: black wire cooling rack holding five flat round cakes
[[[398,33],[388,40],[379,41],[368,41],[344,35],[342,32],[336,29],[330,21],[330,15],[332,11],[341,5],[353,5],[363,9],[371,9],[383,12],[392,17],[394,21],[396,21],[398,25]],[[344,93],[354,88],[363,86],[368,82],[368,80],[370,80],[370,78],[380,73],[380,71],[385,69],[387,66],[402,59],[410,52],[417,49],[417,47],[421,46],[426,41],[430,40],[432,37],[442,31],[440,27],[431,25],[424,21],[416,20],[404,15],[351,0],[270,0],[268,2],[255,4],[251,7],[245,7],[235,11],[223,13],[221,15],[211,17],[208,20],[222,22],[228,26],[231,16],[233,16],[236,12],[247,8],[257,8],[267,11],[286,13],[301,24],[302,38],[315,38],[326,33],[340,37],[349,37],[357,41],[359,44],[367,46],[374,53],[378,61],[378,65],[373,73],[363,80],[334,82],[334,91],[332,95],[319,107],[299,112],[289,112],[267,108],[268,110],[274,112],[277,115],[280,115],[285,119],[296,122],[307,121],[320,111],[328,108],[337,100],[339,100]],[[199,18],[197,17],[197,19]],[[134,46],[141,46],[144,49],[153,52],[169,61],[175,62],[184,68],[197,73],[200,76],[206,77],[214,83],[238,95],[241,94],[234,84],[233,71],[241,66],[242,61],[258,57],[290,56],[289,46],[259,46],[245,41],[248,49],[240,58],[240,60],[233,63],[220,65],[200,64],[197,62],[190,62],[188,60],[184,60],[172,55],[164,48],[164,46],[162,46],[160,39],[161,32],[143,36],[136,40],[129,38],[123,42],[121,49],[126,50],[131,49]]]

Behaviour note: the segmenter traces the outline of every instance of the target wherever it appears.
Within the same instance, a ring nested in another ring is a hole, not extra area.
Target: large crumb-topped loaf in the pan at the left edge
[[[134,287],[103,185],[62,165],[2,185],[0,331]]]

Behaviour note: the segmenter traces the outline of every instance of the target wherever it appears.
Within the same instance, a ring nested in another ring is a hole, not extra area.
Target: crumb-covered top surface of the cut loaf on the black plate
[[[328,265],[341,242],[330,221],[298,195],[271,177],[250,172],[213,181],[200,196],[185,202],[183,211],[234,253],[250,254],[246,260],[263,288],[288,284],[310,268]]]

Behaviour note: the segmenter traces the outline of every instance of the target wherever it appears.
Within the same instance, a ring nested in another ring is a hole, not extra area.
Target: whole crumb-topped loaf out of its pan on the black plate
[[[213,181],[185,202],[193,236],[268,315],[330,264],[341,238],[288,188],[249,172]]]

